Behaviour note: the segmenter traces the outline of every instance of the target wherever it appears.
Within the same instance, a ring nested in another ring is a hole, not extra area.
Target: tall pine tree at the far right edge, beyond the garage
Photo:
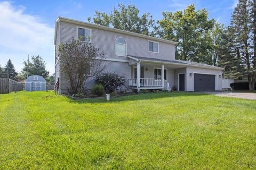
[[[253,68],[253,11],[251,2],[254,0],[239,0],[231,17],[230,30],[234,35],[233,52],[236,53],[239,67],[236,68],[237,75],[247,75],[249,89],[254,90],[255,69]],[[236,65],[234,65],[236,66]]]

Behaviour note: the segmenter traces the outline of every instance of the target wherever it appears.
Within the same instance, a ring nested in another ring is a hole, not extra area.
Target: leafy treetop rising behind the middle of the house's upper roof
[[[150,32],[154,26],[152,15],[143,13],[139,16],[139,12],[139,9],[131,3],[127,7],[124,4],[118,4],[110,14],[95,11],[93,18],[89,17],[87,20],[107,27],[152,35]]]

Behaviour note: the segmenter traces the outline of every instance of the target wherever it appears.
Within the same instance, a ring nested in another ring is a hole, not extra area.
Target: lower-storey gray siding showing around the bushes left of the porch
[[[114,62],[114,61],[105,61],[106,63],[106,69],[103,72],[115,72],[119,75],[125,75],[127,79],[131,77],[131,72],[130,72],[130,66],[126,62]],[[69,87],[69,81],[67,77],[61,73],[61,94],[66,94],[68,92],[68,87]],[[94,85],[94,78],[90,78],[85,82],[86,84],[86,90],[87,92],[90,91],[92,86]],[[126,86],[128,84],[126,83]],[[123,87],[124,89],[125,87]]]

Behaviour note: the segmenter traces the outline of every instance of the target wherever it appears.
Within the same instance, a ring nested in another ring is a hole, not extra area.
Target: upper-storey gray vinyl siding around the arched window
[[[67,22],[61,22],[61,43],[66,43],[73,37],[77,37],[77,27],[83,25],[75,25]],[[123,33],[111,32],[101,29],[86,27],[92,30],[92,45],[100,48],[107,53],[107,58],[128,60],[127,57],[115,56],[115,42],[118,37],[126,40],[127,55],[135,55],[142,57],[159,58],[164,60],[174,60],[175,46],[169,43],[159,43],[159,53],[148,52],[148,39],[125,35]]]

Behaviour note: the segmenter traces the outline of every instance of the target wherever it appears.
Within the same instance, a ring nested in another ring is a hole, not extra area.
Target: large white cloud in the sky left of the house
[[[0,64],[11,58],[20,71],[28,54],[44,58],[47,70],[54,73],[54,28],[42,23],[38,16],[25,13],[24,6],[0,2]]]

